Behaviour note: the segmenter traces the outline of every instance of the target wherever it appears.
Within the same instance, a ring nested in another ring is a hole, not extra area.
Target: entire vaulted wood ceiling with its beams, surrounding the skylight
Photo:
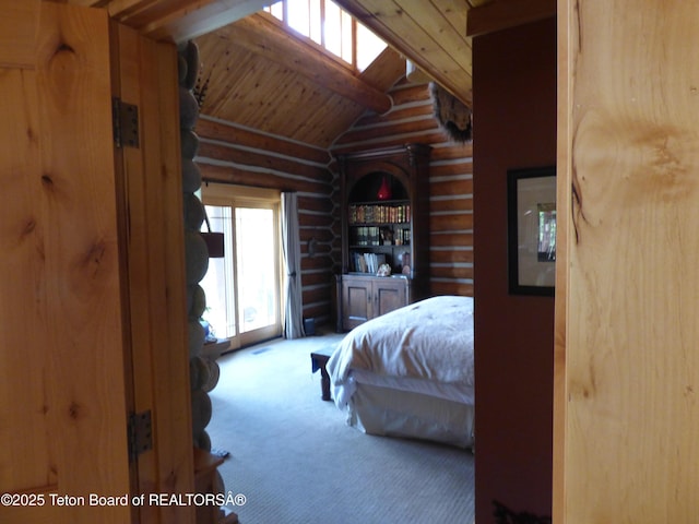
[[[250,16],[271,0],[69,1],[156,39],[194,39],[209,80],[202,114],[323,148],[365,111],[390,109],[405,59],[470,104],[471,36],[556,10],[556,0],[335,0],[390,46],[357,75],[272,16]]]

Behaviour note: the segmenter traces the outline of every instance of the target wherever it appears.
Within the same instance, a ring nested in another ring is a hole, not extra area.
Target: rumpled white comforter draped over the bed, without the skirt
[[[455,385],[472,395],[473,298],[433,297],[365,322],[343,338],[327,370],[335,391],[351,386],[352,370],[359,370]],[[347,398],[339,396],[342,407]]]

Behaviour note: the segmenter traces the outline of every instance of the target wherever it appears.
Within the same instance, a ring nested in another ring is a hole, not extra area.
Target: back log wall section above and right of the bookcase
[[[427,84],[399,82],[390,95],[393,98],[390,111],[365,115],[331,151],[334,155],[407,142],[433,146],[430,290],[433,295],[473,296],[473,147],[450,142],[439,129]]]

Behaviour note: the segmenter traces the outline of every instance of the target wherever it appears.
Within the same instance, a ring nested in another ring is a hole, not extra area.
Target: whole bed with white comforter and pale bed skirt
[[[325,368],[350,426],[473,446],[473,298],[433,297],[369,320]]]

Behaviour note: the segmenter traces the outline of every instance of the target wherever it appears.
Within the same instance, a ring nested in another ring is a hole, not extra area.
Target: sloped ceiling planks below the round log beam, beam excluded
[[[265,29],[260,39],[249,27],[238,32],[238,25],[197,39],[202,79],[211,75],[202,114],[329,147],[365,111],[364,106],[299,74],[293,60],[282,62],[270,59],[269,52],[254,52],[258,47],[275,48],[271,40],[277,29]]]

